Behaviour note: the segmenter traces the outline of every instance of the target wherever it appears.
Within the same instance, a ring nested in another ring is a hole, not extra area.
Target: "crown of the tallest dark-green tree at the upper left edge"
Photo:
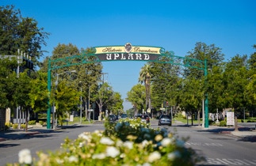
[[[39,28],[35,19],[22,17],[20,9],[14,6],[0,6],[0,52],[2,55],[17,55],[20,49],[32,56],[32,62],[38,65],[43,55],[42,45],[49,33]]]

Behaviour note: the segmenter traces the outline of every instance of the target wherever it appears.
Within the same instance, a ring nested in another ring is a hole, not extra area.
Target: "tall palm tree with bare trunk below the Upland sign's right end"
[[[146,108],[151,109],[151,66],[146,64],[139,71],[139,82],[144,83],[146,89]],[[146,109],[146,111],[147,111]]]

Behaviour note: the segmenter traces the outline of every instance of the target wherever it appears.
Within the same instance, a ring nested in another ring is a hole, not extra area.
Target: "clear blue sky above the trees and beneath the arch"
[[[164,47],[185,56],[197,42],[214,43],[226,60],[251,55],[256,44],[254,0],[166,1],[32,1],[0,0],[14,5],[50,32],[44,50],[51,56],[58,43],[78,48],[124,45]],[[145,62],[103,62],[105,80],[123,98],[138,83]],[[131,104],[124,102],[124,109]]]

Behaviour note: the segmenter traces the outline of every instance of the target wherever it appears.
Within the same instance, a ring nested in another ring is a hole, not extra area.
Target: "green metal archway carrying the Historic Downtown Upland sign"
[[[95,60],[90,60],[90,57],[96,57]],[[166,57],[169,61],[162,62],[159,58]],[[52,70],[57,70],[66,66],[76,66],[85,63],[94,62],[109,62],[109,61],[146,61],[146,62],[161,62],[170,63],[178,66],[185,66],[204,70],[204,81],[207,83],[207,60],[198,60],[194,58],[185,58],[174,55],[174,51],[165,51],[163,47],[147,47],[147,46],[132,46],[131,43],[126,43],[123,46],[104,46],[93,47],[93,53],[82,55],[73,55],[67,58],[48,59],[48,91],[51,92],[51,73]],[[47,128],[51,128],[51,112],[52,107],[48,101],[47,111]],[[208,94],[204,94],[204,127],[208,128]]]

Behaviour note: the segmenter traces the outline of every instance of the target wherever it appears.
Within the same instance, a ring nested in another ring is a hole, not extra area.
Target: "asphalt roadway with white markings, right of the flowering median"
[[[199,165],[256,165],[255,139],[240,138],[225,132],[220,134],[220,130],[205,130],[201,126],[186,126],[183,123],[160,127],[176,133],[178,138],[189,138],[185,145],[206,158]]]

